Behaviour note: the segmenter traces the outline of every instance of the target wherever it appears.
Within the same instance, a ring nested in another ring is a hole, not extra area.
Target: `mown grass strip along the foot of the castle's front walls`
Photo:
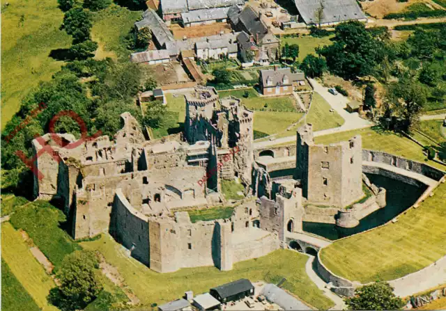
[[[327,310],[334,305],[305,273],[308,257],[291,250],[276,250],[256,260],[238,262],[231,271],[220,271],[213,266],[207,266],[181,269],[174,273],[156,273],[125,255],[122,246],[107,234],[97,241],[81,244],[86,249],[100,251],[105,260],[118,269],[125,278],[125,283],[141,300],[141,308],[152,303],[160,305],[178,299],[187,290],[192,290],[194,294],[208,292],[211,287],[239,278],[248,278],[252,282],[265,279],[268,282],[277,282],[282,277],[286,278],[285,289],[314,307]]]

